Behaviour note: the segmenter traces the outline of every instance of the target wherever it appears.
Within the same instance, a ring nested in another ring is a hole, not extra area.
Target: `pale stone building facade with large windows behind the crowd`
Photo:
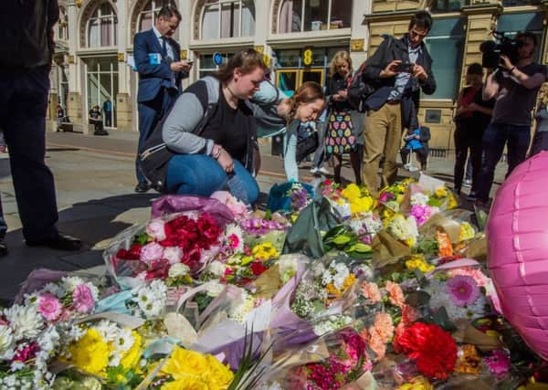
[[[289,92],[307,80],[323,84],[337,50],[350,50],[357,68],[383,34],[401,36],[416,9],[427,8],[435,19],[426,43],[438,88],[423,97],[419,120],[432,131],[431,147],[441,150],[453,148],[458,90],[467,66],[481,61],[479,44],[492,39],[492,30],[509,37],[532,31],[541,43],[537,60],[548,59],[548,0],[59,0],[50,119],[60,103],[75,130],[85,131],[90,107],[111,99],[113,126],[137,131],[132,37],[151,28],[166,3],[183,16],[175,34],[182,58],[195,61],[185,85],[217,68],[214,54],[225,61],[255,47],[272,79]]]

